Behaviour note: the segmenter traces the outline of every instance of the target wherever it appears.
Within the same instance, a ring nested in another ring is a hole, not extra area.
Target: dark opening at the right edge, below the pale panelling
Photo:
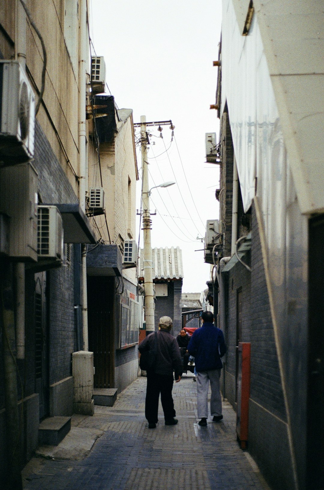
[[[307,489],[324,489],[324,215],[309,221]]]

